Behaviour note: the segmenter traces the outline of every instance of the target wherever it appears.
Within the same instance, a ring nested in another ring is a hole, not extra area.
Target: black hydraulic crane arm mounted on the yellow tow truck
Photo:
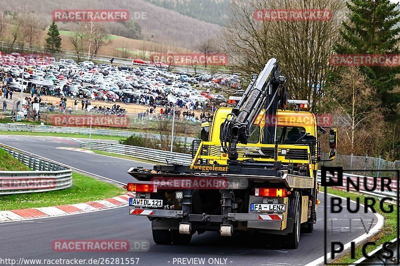
[[[285,83],[287,77],[280,73],[278,61],[271,58],[265,64],[258,77],[252,75],[252,80],[242,98],[232,112],[226,117],[221,132],[221,146],[230,160],[237,159],[236,144],[247,144],[250,129],[261,112],[265,109],[265,117],[276,121],[276,111],[279,107],[286,108]],[[276,125],[265,123],[263,143],[275,143]]]

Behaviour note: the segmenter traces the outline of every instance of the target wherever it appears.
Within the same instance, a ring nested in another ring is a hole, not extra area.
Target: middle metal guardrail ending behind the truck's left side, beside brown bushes
[[[105,152],[116,153],[120,155],[132,156],[139,159],[150,160],[158,163],[180,163],[189,165],[191,163],[191,155],[177,152],[168,152],[154,150],[143,147],[136,147],[123,144],[105,143],[105,142],[82,142],[80,148],[100,150]]]

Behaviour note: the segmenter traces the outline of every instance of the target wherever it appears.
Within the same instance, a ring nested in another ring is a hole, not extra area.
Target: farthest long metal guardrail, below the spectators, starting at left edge
[[[25,131],[25,132],[50,132],[50,133],[69,133],[69,134],[83,134],[89,135],[89,128],[79,128],[79,127],[56,127],[56,126],[40,126],[40,125],[26,125],[26,124],[0,124],[0,131]],[[130,137],[139,136],[143,138],[153,138],[156,140],[160,139],[159,134],[152,133],[141,133],[133,131],[123,131],[123,130],[110,130],[110,129],[91,129],[92,135],[101,136],[117,136],[117,137]],[[194,138],[176,136],[177,141],[191,143]]]

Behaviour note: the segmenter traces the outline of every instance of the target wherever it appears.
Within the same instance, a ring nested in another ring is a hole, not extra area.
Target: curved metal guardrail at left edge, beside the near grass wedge
[[[0,195],[44,192],[69,188],[71,169],[1,145],[0,148],[33,171],[0,171]]]

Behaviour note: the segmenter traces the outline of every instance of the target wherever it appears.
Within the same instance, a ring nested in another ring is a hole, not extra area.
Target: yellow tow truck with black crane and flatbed
[[[189,244],[194,233],[278,234],[297,248],[311,233],[318,205],[317,133],[326,133],[308,102],[287,100],[278,61],[271,58],[236,105],[201,124],[191,165],[131,168],[129,214],[151,221],[156,244]],[[288,110],[288,106],[294,110]],[[329,128],[329,160],[337,130]]]

